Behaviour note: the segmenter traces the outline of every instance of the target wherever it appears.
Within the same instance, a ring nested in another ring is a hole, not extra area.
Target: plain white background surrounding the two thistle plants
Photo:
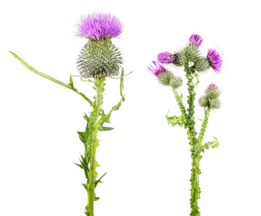
[[[220,75],[209,70],[196,89],[196,100],[211,82],[222,90],[221,109],[211,112],[205,137],[218,137],[220,147],[203,153],[202,216],[260,216],[259,9],[253,0],[1,3],[0,215],[85,215],[85,177],[73,163],[84,151],[76,131],[84,130],[90,108],[74,92],[32,74],[8,50],[68,82],[77,75],[76,58],[86,41],[75,36],[79,17],[106,12],[124,23],[113,42],[125,71],[135,73],[125,79],[126,102],[112,114],[115,130],[99,134],[98,173],[108,174],[97,187],[95,216],[189,215],[186,132],[167,125],[168,110],[179,115],[174,95],[147,67],[157,53],[180,49],[193,33],[202,36],[204,55],[218,49],[224,61]],[[94,95],[89,83],[76,77],[75,85]],[[118,90],[119,80],[108,80],[106,111],[120,100]],[[195,111],[202,118],[202,108]]]

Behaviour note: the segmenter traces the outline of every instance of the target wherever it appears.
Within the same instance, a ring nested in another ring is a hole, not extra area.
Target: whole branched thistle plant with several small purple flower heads
[[[194,117],[194,101],[195,101],[195,87],[199,83],[199,77],[207,70],[212,68],[217,74],[220,73],[222,60],[220,54],[215,49],[209,49],[207,57],[203,57],[200,52],[202,45],[202,37],[193,34],[188,44],[183,49],[175,51],[174,53],[162,52],[157,55],[158,61],[152,61],[148,67],[148,71],[157,76],[157,80],[161,85],[166,85],[172,88],[175,100],[180,109],[180,116],[168,116],[166,114],[166,121],[172,126],[179,125],[187,130],[187,138],[189,139],[190,151],[192,157],[191,169],[191,216],[199,216],[198,200],[200,199],[200,184],[199,176],[201,174],[200,161],[202,152],[205,149],[217,148],[219,141],[213,137],[214,140],[207,141],[202,144],[205,130],[209,121],[211,110],[220,108],[220,88],[215,84],[207,86],[204,94],[199,98],[199,105],[204,108],[204,118],[202,120],[201,130],[195,130],[195,117]],[[187,80],[188,100],[187,106],[183,103],[183,94],[178,91],[178,88],[183,84],[180,76],[166,69],[161,64],[171,65],[174,67],[184,67],[184,75]]]

